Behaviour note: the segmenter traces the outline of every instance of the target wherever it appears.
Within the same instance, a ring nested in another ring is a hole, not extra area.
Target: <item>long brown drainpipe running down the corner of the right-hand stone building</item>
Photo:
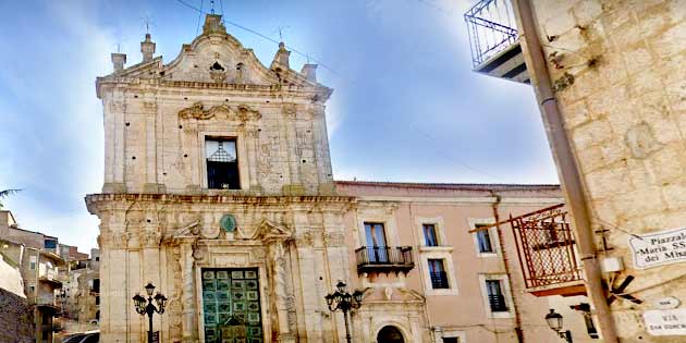
[[[586,274],[586,289],[596,308],[598,324],[602,332],[603,341],[617,343],[617,334],[605,298],[605,290],[602,284],[602,273],[598,262],[593,232],[591,230],[591,216],[586,204],[580,173],[569,146],[566,132],[562,122],[562,115],[558,108],[558,100],[552,90],[550,75],[543,49],[539,40],[538,26],[534,17],[530,0],[512,0],[515,12],[520,23],[520,40],[525,42],[529,52],[527,69],[531,79],[535,81],[536,96],[539,101],[541,117],[546,125],[546,134],[551,145],[553,158],[558,164],[558,174],[562,181],[567,208],[574,218],[576,226],[576,245],[579,250],[581,265]]]

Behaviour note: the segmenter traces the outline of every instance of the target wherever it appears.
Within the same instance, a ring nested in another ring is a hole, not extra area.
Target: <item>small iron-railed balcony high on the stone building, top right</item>
[[[475,72],[530,84],[511,0],[480,0],[464,19]]]

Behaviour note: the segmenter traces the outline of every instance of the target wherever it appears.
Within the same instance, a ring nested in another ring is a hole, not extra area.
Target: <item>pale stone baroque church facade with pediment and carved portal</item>
[[[124,70],[121,59],[113,56],[115,72],[97,82],[106,175],[102,194],[86,200],[101,220],[101,340],[145,338],[130,299],[148,281],[170,298],[155,322],[164,342],[218,334],[205,326],[219,319],[261,322],[250,327],[255,342],[323,340],[321,328],[333,319],[307,294],[348,279],[345,249],[320,237],[343,235],[342,213],[353,201],[334,194],[323,117],[331,90],[313,71],[291,70],[283,46],[265,68],[217,15],[169,64],[155,58]],[[237,189],[209,189],[208,137],[234,139]],[[316,270],[327,278],[311,278]],[[246,303],[250,318],[228,309],[224,318],[216,308],[217,317],[200,316],[209,310],[204,295],[228,292],[208,293],[204,278],[226,272],[254,278],[236,284],[259,284],[246,292],[257,296]]]

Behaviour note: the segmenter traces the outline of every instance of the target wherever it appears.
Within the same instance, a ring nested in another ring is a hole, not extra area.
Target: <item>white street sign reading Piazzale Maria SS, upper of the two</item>
[[[686,228],[638,236],[628,241],[636,269],[686,261]]]

